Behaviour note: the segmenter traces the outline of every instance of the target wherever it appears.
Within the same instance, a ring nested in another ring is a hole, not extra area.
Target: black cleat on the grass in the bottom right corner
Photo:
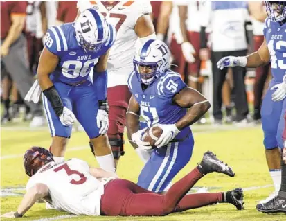
[[[286,213],[286,199],[277,195],[264,204],[257,204],[256,209],[262,213]]]

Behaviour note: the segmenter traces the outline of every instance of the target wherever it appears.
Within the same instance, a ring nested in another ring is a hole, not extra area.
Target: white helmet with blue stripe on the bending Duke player
[[[85,52],[100,51],[109,37],[109,25],[100,12],[89,8],[75,21],[75,37]]]

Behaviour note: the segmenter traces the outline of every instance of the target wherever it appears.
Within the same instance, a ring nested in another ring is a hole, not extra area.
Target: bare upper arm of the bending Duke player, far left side
[[[53,86],[53,82],[50,80],[50,74],[55,70],[59,58],[54,55],[46,47],[42,51],[39,58],[39,67],[37,69],[37,80],[42,91]]]

